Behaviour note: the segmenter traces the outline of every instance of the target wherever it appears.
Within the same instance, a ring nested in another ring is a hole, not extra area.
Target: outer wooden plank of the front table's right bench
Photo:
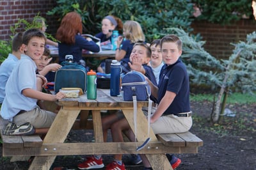
[[[186,146],[193,147],[193,146],[203,146],[204,142],[202,139],[197,137],[195,134],[192,134],[191,132],[185,132],[179,135],[180,138],[184,139],[186,141]]]

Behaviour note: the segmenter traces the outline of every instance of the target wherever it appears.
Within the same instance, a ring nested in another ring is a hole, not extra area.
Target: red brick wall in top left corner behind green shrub
[[[46,32],[54,34],[58,29],[58,17],[46,15],[56,5],[54,0],[1,0],[0,1],[0,40],[10,40],[10,26],[19,19],[33,19],[40,12],[48,25]]]

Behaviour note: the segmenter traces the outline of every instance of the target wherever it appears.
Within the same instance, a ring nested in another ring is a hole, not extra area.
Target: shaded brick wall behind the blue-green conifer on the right
[[[206,21],[194,21],[191,25],[193,33],[200,33],[202,40],[206,41],[204,49],[215,58],[228,58],[234,50],[230,43],[245,41],[246,35],[256,31],[255,20],[239,20],[228,26],[211,24]]]

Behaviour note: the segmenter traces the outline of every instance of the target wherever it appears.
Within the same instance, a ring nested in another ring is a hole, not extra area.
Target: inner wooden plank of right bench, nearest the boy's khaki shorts
[[[156,137],[166,146],[186,146],[186,141],[176,134],[157,134]]]

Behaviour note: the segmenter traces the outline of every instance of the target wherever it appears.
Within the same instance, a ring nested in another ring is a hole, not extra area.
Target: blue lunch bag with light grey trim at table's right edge
[[[132,101],[132,96],[136,95],[138,101],[148,100],[150,97],[150,86],[142,73],[131,71],[122,78],[122,89],[124,100]]]

